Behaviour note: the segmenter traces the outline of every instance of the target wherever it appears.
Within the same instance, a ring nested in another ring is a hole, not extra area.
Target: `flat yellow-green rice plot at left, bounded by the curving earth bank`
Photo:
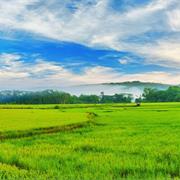
[[[83,112],[56,109],[0,109],[0,131],[61,126],[86,121]]]

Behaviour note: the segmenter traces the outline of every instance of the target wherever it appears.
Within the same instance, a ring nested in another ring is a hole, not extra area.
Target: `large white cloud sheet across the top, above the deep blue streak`
[[[72,12],[67,8],[70,0],[1,0],[0,25],[9,32],[24,30],[56,40],[119,50],[124,38],[165,30],[166,11],[178,2],[154,0],[118,12],[109,8],[110,1],[92,0],[92,5],[79,1],[74,3],[76,10]]]

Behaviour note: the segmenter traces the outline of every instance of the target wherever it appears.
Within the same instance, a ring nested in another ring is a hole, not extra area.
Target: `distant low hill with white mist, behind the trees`
[[[102,84],[87,84],[63,88],[63,91],[71,94],[96,94],[99,95],[102,91],[107,95],[115,93],[127,93],[133,94],[134,97],[140,96],[143,93],[144,88],[155,88],[158,90],[166,90],[169,84],[140,82],[140,81],[127,81],[127,82],[112,82]]]

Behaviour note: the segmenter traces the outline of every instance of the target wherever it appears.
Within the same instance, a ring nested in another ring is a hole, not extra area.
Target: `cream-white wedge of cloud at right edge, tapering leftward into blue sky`
[[[145,58],[146,64],[180,69],[180,41],[161,40],[148,44],[128,44],[128,48]]]

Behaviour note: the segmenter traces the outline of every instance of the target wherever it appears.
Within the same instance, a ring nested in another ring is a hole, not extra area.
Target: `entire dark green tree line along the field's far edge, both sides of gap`
[[[98,104],[98,103],[130,103],[134,101],[131,94],[114,95],[80,95],[66,92],[45,91],[0,91],[0,104]],[[180,87],[171,86],[167,90],[145,88],[140,102],[180,102]]]

